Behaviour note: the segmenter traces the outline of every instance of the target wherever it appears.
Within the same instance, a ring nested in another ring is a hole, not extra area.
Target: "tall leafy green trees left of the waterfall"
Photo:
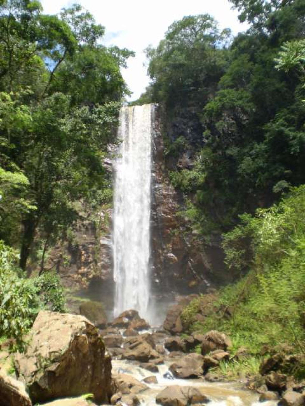
[[[21,247],[24,270],[35,238],[46,251],[75,222],[73,203],[109,186],[103,157],[133,53],[100,45],[104,31],[78,5],[57,16],[38,1],[1,2],[0,238]]]

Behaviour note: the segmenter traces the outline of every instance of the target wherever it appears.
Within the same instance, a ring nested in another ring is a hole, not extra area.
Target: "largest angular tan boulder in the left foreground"
[[[84,393],[93,393],[97,402],[110,399],[111,358],[85,317],[41,311],[28,339],[15,367],[33,403]]]

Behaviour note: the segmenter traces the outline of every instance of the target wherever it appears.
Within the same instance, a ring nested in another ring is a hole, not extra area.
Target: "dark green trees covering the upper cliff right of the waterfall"
[[[190,16],[147,52],[142,99],[162,106],[170,179],[203,236],[305,181],[304,2],[233,4],[251,24],[233,41]]]

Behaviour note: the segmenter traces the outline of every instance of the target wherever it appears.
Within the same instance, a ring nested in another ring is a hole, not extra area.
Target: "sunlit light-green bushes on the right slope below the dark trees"
[[[254,353],[262,346],[290,343],[305,352],[305,186],[295,188],[279,204],[242,216],[224,236],[229,269],[247,271],[220,292],[216,307],[196,324],[200,300],[183,314],[190,330],[216,328],[229,333]]]

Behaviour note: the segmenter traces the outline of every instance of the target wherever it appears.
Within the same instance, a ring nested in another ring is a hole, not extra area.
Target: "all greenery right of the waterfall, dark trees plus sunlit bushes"
[[[209,15],[174,22],[147,50],[139,99],[161,104],[168,177],[198,238],[222,234],[237,280],[218,312],[198,323],[198,299],[183,322],[253,353],[279,342],[304,353],[305,3],[231,2],[248,30],[233,38]]]

